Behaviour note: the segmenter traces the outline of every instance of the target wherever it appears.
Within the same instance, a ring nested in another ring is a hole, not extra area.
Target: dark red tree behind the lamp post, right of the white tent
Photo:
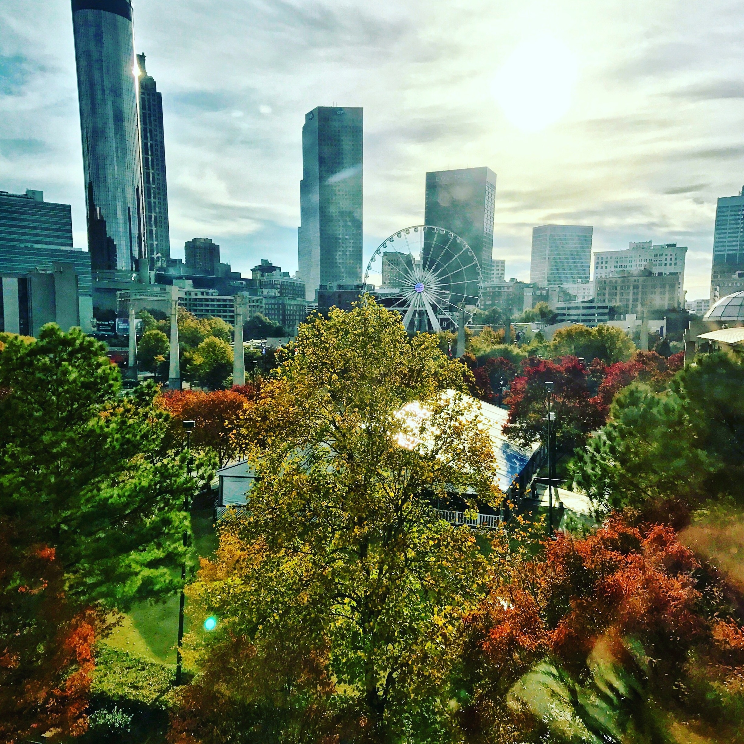
[[[530,357],[522,369],[522,376],[511,383],[506,400],[510,410],[505,434],[525,446],[545,440],[548,381],[554,383],[551,409],[555,412],[555,446],[572,449],[601,426],[603,416],[589,395],[586,367],[576,357],[568,356],[559,362]]]

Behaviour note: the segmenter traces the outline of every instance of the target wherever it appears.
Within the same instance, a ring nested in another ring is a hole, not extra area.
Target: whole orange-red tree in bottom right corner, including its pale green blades
[[[472,743],[663,743],[679,726],[743,741],[741,598],[671,527],[620,516],[513,556],[469,618],[458,728]]]

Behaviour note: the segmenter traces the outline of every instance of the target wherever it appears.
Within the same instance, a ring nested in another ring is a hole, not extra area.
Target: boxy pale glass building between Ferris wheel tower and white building
[[[551,286],[589,280],[593,231],[589,225],[532,228],[530,282]]]

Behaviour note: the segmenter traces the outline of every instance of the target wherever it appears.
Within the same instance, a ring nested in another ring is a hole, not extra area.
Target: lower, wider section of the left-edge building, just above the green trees
[[[46,323],[92,330],[91,260],[68,248],[0,246],[0,331],[36,336]]]

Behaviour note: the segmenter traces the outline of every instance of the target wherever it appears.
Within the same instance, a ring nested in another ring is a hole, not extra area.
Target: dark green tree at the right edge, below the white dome
[[[687,519],[716,501],[744,503],[744,368],[699,356],[668,389],[635,383],[577,453],[574,483],[597,508],[632,505],[655,519]]]

